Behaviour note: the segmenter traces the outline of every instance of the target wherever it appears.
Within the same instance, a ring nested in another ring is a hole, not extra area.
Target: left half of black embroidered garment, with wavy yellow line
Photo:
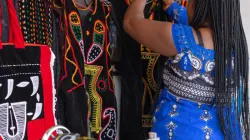
[[[54,2],[62,7],[62,59],[58,95],[63,114],[62,124],[81,136],[88,135],[88,95],[84,82],[83,32],[79,12],[72,0]],[[55,9],[56,10],[56,9]],[[57,12],[57,14],[60,13]]]

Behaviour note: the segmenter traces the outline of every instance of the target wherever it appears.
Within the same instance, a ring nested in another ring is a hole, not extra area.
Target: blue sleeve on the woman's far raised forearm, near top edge
[[[177,2],[173,2],[166,10],[166,13],[175,23],[188,25],[187,9],[184,6],[179,5]]]

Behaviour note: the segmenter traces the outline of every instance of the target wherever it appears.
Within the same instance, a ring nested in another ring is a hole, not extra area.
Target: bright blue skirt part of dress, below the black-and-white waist
[[[161,140],[224,140],[216,107],[177,99],[163,89],[153,118],[152,132]]]

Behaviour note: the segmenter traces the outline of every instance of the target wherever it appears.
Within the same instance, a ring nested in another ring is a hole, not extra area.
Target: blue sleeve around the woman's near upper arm
[[[191,37],[193,37],[193,32],[190,26],[173,24],[172,37],[178,54],[182,53],[183,51],[191,50],[191,47],[194,45],[193,40],[191,40]]]

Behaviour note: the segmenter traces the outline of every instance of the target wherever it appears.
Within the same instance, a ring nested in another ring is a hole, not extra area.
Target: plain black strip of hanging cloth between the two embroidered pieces
[[[121,76],[120,139],[143,139],[142,136],[142,72],[140,44],[131,39],[123,30],[123,17],[127,9],[125,0],[111,0],[116,14],[117,26],[121,29],[118,47],[121,58],[115,69]]]

